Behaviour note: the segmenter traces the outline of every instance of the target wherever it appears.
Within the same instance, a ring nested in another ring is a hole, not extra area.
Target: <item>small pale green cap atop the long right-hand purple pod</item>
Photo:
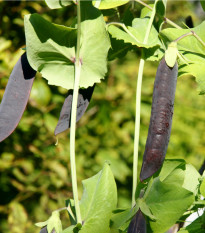
[[[169,67],[174,67],[177,60],[177,53],[177,43],[170,43],[168,49],[165,51],[165,61]]]

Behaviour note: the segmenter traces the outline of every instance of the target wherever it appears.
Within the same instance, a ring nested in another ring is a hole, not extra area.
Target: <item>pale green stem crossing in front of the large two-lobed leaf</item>
[[[71,179],[73,188],[73,198],[75,203],[76,218],[78,223],[82,223],[80,214],[80,205],[78,199],[78,186],[77,186],[77,176],[76,176],[76,162],[75,162],[75,130],[76,130],[76,112],[77,112],[77,102],[78,102],[78,89],[80,82],[80,71],[81,62],[79,59],[80,54],[80,0],[77,2],[77,18],[78,18],[78,33],[77,33],[77,48],[76,48],[76,61],[75,61],[75,81],[73,90],[73,101],[71,110],[71,127],[70,127],[70,163],[71,163]]]

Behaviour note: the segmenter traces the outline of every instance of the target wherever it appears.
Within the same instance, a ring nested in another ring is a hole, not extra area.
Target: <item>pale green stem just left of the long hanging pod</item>
[[[155,10],[152,10],[152,14],[147,26],[145,38],[143,44],[147,44],[151,27],[155,17]],[[134,155],[133,155],[133,188],[132,188],[132,207],[136,204],[135,192],[137,189],[137,166],[138,166],[138,149],[139,149],[139,134],[140,134],[140,105],[141,105],[141,89],[142,89],[142,76],[144,70],[144,54],[139,63],[139,71],[137,78],[137,90],[136,90],[136,113],[135,113],[135,137],[134,137]]]

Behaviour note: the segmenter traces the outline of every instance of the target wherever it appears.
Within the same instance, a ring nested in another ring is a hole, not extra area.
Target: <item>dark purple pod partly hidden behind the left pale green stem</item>
[[[76,122],[78,122],[85,113],[92,97],[94,87],[95,85],[92,87],[88,87],[87,89],[79,89]],[[63,107],[61,109],[58,124],[55,129],[55,135],[62,133],[63,131],[70,128],[72,100],[73,90],[70,90],[68,92],[68,97],[65,99]]]

